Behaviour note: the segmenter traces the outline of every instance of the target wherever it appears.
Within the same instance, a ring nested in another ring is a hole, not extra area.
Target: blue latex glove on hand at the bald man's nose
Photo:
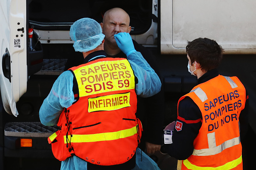
[[[125,53],[126,56],[136,52],[129,33],[118,33],[115,34],[114,37],[116,39],[117,46]]]

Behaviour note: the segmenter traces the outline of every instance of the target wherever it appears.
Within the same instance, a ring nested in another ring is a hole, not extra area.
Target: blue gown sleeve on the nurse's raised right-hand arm
[[[127,59],[138,79],[136,94],[140,97],[150,97],[157,94],[161,90],[161,81],[141,53],[133,52],[127,56]]]

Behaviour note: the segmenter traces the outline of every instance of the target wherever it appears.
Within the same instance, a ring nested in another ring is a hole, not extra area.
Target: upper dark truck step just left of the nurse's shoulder
[[[60,75],[64,69],[67,59],[43,59],[43,66],[37,75]]]

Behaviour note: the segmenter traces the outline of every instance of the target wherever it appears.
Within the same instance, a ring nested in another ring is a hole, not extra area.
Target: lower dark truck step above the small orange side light
[[[4,135],[11,137],[49,137],[58,126],[44,126],[40,122],[9,122],[5,124]]]

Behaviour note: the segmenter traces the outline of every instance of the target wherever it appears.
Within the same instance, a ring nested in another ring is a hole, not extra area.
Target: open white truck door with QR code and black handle
[[[0,0],[0,89],[6,112],[27,89],[26,0]]]

